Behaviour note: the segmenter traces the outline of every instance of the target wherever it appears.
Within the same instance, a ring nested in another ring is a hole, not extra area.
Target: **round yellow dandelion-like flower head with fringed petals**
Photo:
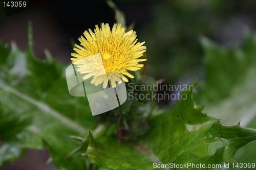
[[[85,31],[83,35],[85,38],[81,36],[78,39],[80,45],[75,44],[76,53],[71,54],[74,57],[71,60],[78,65],[78,71],[81,74],[87,74],[83,76],[83,80],[93,77],[92,84],[103,83],[103,88],[106,88],[109,80],[112,86],[115,82],[121,83],[121,79],[128,82],[125,76],[130,78],[134,76],[127,70],[137,71],[143,67],[139,62],[146,60],[140,59],[146,51],[146,46],[142,46],[145,42],[137,42],[135,31],[125,33],[120,23],[114,24],[111,31],[108,23],[102,23],[101,28],[96,25],[94,32],[89,29],[89,32]],[[92,55],[100,55],[102,61],[81,60]],[[102,64],[104,76],[102,76],[102,70],[99,70]]]

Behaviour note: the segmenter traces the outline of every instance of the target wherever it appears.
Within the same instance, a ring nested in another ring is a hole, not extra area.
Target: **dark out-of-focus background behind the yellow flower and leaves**
[[[114,1],[124,12],[126,25],[135,24],[140,41],[146,41],[148,75],[165,78],[165,83],[194,81],[202,74],[203,51],[200,36],[224,46],[238,46],[246,30],[255,30],[256,1],[173,0]],[[101,22],[113,26],[114,11],[105,1],[39,1],[33,8],[0,20],[0,40],[15,40],[27,48],[28,21],[33,24],[34,53],[45,59],[44,51],[63,64],[70,62],[72,42]],[[55,169],[46,164],[47,151],[28,150],[10,169]]]

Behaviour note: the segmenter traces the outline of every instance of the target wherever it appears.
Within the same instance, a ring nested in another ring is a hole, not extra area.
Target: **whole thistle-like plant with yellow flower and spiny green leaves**
[[[123,16],[115,5],[110,5],[119,16],[116,18]],[[124,23],[124,18],[121,20]],[[100,54],[108,75],[119,72],[122,74],[119,78],[132,86],[156,84],[154,78],[145,75],[142,65],[146,64],[142,58],[145,47],[137,43],[134,31],[125,33],[122,27],[114,25],[111,31],[103,24],[101,29],[96,26],[94,32],[85,32],[85,38],[79,38],[81,44],[76,45],[72,61]],[[67,66],[56,61],[48,51],[45,61],[38,60],[33,53],[31,25],[28,32],[26,51],[20,50],[14,42],[10,49],[0,44],[0,165],[23,156],[27,148],[47,148],[48,162],[67,170],[179,169],[171,165],[188,162],[230,163],[241,167],[234,154],[256,139],[256,130],[242,127],[243,120],[240,124],[232,119],[235,124],[225,125],[218,116],[207,115],[205,108],[222,116],[228,113],[229,119],[237,117],[238,109],[253,116],[254,36],[248,36],[238,49],[226,49],[203,39],[206,83],[191,83],[189,87],[193,88],[181,91],[187,98],[178,100],[172,107],[159,109],[154,100],[132,99],[109,112],[92,116],[87,98],[69,94],[65,77]],[[225,61],[221,67],[218,67],[219,61]],[[84,79],[97,77],[97,72],[82,63],[80,66],[80,71],[88,74]],[[91,83],[105,87],[110,80],[111,76]],[[230,80],[232,93],[225,89],[226,80]],[[194,93],[194,87],[198,86],[198,93]],[[250,93],[245,98],[244,93],[236,95],[238,89],[243,92],[248,89]],[[224,92],[226,98],[220,98]],[[135,93],[150,91],[131,91],[131,95]],[[241,96],[244,100],[240,100]],[[200,105],[196,105],[199,102]],[[247,150],[246,155],[253,155],[253,149]]]

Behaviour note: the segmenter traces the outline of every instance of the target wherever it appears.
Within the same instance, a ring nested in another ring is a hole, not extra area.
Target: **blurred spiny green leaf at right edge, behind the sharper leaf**
[[[241,121],[242,126],[256,128],[256,36],[247,33],[239,48],[224,48],[207,38],[201,41],[205,79],[195,100],[223,123]],[[255,162],[256,153],[250,152],[255,147],[255,141],[249,143],[236,157],[240,162]]]

